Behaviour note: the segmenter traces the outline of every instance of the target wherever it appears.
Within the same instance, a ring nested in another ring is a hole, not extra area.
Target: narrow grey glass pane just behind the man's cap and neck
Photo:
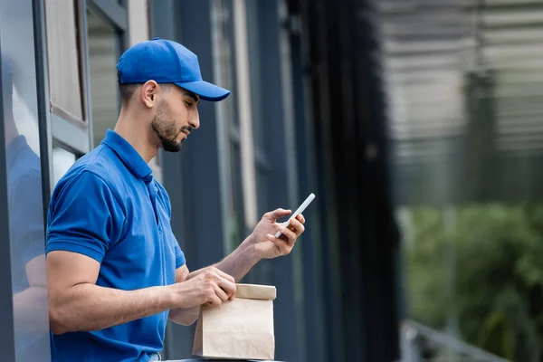
[[[92,132],[96,147],[106,131],[115,127],[119,115],[116,68],[119,35],[107,20],[91,11],[87,12],[87,25]]]

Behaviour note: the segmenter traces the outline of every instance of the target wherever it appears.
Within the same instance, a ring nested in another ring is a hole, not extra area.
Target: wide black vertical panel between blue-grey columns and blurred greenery
[[[398,237],[373,8],[363,0],[291,1],[291,8],[300,8],[309,45],[327,358],[394,360]]]

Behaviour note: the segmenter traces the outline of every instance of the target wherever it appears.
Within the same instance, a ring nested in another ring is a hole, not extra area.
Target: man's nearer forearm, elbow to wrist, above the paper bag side
[[[145,318],[176,306],[167,287],[120,291],[84,283],[50,300],[49,319],[55,334],[99,330]]]

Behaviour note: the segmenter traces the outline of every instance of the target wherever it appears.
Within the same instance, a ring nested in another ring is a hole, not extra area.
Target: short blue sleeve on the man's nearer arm
[[[49,207],[47,252],[78,252],[101,262],[119,241],[123,209],[110,186],[90,171],[61,182]]]

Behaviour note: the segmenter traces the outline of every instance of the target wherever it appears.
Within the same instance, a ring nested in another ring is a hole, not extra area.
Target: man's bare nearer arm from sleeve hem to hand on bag
[[[49,319],[55,334],[99,330],[148,317],[165,310],[221,304],[233,282],[214,271],[166,287],[120,291],[96,285],[100,263],[76,253],[47,255]]]

